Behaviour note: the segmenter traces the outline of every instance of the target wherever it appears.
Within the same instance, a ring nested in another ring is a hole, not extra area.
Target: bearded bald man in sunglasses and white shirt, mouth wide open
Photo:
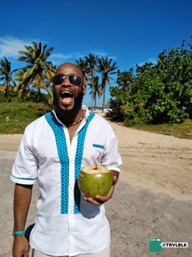
[[[34,257],[110,256],[110,228],[103,203],[113,195],[121,157],[111,126],[82,105],[85,94],[79,68],[71,63],[60,65],[53,78],[53,112],[26,127],[10,177],[16,183],[14,257],[29,256],[24,232],[35,182],[40,195],[30,234]],[[97,200],[83,197],[77,186],[79,171],[86,164],[98,164],[102,153],[101,165],[112,171],[113,186]]]

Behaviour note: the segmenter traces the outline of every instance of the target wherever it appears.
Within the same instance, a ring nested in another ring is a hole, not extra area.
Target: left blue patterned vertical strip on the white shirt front
[[[51,126],[56,140],[57,152],[61,163],[61,214],[68,213],[69,202],[69,156],[66,144],[66,136],[63,126],[57,121],[53,113],[48,113],[45,118]]]

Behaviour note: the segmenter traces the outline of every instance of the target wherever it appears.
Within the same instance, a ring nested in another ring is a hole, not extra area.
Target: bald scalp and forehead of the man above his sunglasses
[[[57,68],[55,75],[57,74],[63,74],[63,75],[76,75],[78,77],[80,77],[82,79],[82,81],[84,82],[84,77],[82,74],[82,71],[79,69],[79,67],[77,67],[77,65],[73,64],[73,63],[63,63],[61,65],[59,65],[59,67]]]

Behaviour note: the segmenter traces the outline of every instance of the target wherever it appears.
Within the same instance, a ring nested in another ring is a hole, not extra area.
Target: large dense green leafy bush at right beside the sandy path
[[[164,49],[157,64],[118,70],[117,86],[110,87],[113,120],[127,125],[181,123],[192,117],[192,43]]]

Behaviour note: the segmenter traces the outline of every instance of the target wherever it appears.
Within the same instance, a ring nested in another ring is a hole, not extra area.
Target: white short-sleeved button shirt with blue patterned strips
[[[101,165],[109,170],[120,172],[121,157],[110,124],[86,105],[82,108],[86,114],[71,143],[54,111],[29,124],[10,176],[16,183],[38,182],[30,246],[49,255],[93,253],[110,244],[104,205],[84,200],[75,181],[80,168],[98,164],[103,151]]]

